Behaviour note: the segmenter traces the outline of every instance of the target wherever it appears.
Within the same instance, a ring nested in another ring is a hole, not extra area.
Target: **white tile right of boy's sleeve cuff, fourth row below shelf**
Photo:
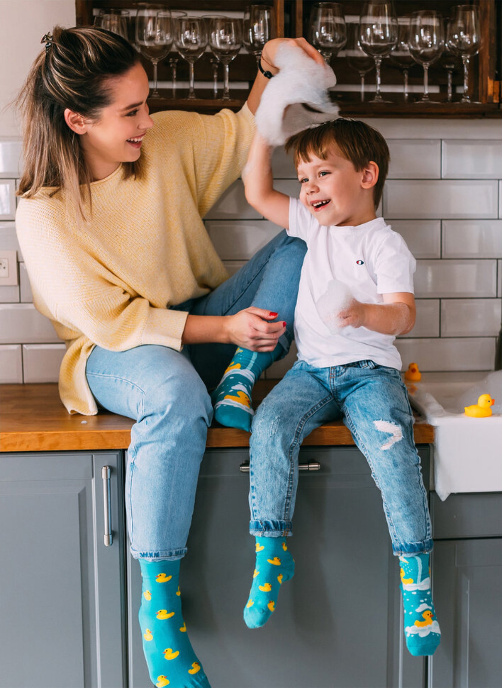
[[[494,260],[420,260],[415,272],[417,297],[494,297]]]

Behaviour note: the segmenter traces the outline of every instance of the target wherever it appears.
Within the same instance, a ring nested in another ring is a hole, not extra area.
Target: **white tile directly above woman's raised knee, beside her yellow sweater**
[[[247,260],[281,231],[266,219],[206,220],[206,229],[222,260]]]

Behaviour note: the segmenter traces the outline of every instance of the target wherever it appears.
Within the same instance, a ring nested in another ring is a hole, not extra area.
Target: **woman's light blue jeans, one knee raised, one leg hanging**
[[[283,231],[205,297],[178,305],[195,315],[232,315],[254,305],[279,313],[293,338],[306,246]],[[146,266],[147,268],[147,266]],[[145,268],[145,269],[146,269]],[[94,347],[87,382],[98,404],[136,420],[127,453],[126,510],[136,559],[180,559],[192,519],[199,466],[212,420],[208,389],[232,360],[234,345],[145,345],[123,352]]]

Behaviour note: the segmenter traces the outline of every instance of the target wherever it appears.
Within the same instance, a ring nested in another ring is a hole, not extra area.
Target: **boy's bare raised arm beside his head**
[[[290,197],[274,189],[272,147],[255,133],[248,162],[242,172],[245,197],[270,222],[289,229]]]

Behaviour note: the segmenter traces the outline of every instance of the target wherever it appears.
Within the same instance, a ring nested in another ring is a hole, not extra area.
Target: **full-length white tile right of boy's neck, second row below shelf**
[[[386,219],[484,219],[497,216],[495,180],[389,180]]]

